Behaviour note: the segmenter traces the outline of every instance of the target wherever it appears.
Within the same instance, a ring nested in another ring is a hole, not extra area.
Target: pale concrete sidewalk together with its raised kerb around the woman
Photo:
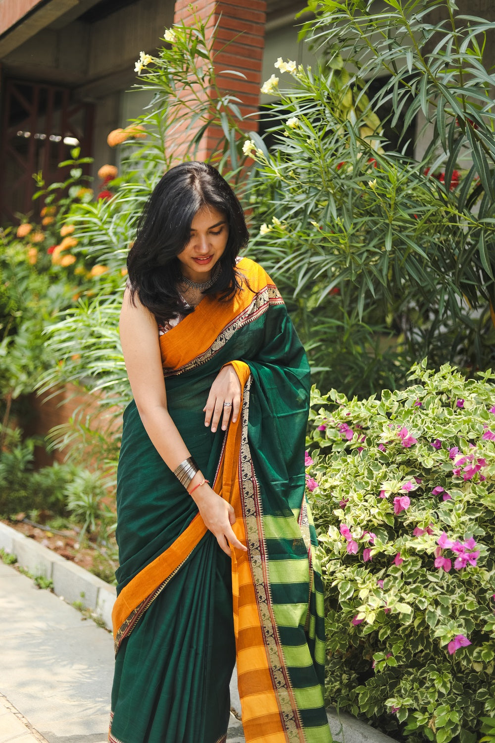
[[[113,638],[67,600],[110,627],[114,588],[1,523],[0,548],[55,591],[0,561],[0,743],[105,743]],[[243,743],[235,676],[231,704],[227,740]],[[335,742],[391,743],[350,715],[327,715]]]

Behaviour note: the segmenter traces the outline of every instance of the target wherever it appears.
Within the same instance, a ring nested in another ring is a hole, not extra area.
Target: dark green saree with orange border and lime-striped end
[[[220,743],[237,678],[246,742],[328,743],[316,536],[304,495],[309,368],[283,300],[242,259],[240,293],[205,297],[160,337],[168,411],[248,548],[226,556],[160,458],[135,403],[117,478],[117,653],[111,743]],[[204,425],[218,371],[241,413]]]

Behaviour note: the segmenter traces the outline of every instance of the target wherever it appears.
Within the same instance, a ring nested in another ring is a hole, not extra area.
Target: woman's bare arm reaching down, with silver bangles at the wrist
[[[131,304],[128,289],[122,302],[119,330],[125,367],[142,425],[165,464],[174,471],[191,454],[168,413],[157,321],[138,299],[136,306]],[[203,474],[198,472],[189,490],[201,480]],[[186,491],[184,497],[189,498]],[[206,527],[214,533],[226,554],[230,554],[228,542],[245,550],[232,531],[235,515],[229,503],[206,483],[197,487],[191,497]]]

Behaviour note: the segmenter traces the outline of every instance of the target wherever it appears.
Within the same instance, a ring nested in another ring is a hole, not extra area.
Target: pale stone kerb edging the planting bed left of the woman
[[[0,548],[15,555],[18,565],[33,577],[51,580],[57,596],[89,609],[107,629],[112,628],[111,612],[117,596],[114,586],[1,523]]]

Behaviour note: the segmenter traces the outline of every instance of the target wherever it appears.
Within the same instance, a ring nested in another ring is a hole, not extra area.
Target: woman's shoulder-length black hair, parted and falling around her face
[[[235,259],[249,240],[243,208],[214,167],[200,162],[181,163],[165,173],[148,198],[127,259],[131,302],[134,304],[137,294],[159,323],[192,312],[192,308],[184,307],[177,289],[182,274],[177,255],[190,239],[194,216],[205,206],[226,215],[229,239],[218,261],[220,272],[203,294],[227,300],[240,290]]]

